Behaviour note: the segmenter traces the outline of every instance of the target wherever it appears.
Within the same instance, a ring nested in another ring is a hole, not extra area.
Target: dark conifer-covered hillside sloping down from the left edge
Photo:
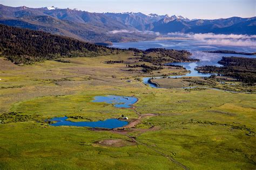
[[[117,50],[43,31],[0,25],[0,53],[19,65],[59,57],[108,55]]]

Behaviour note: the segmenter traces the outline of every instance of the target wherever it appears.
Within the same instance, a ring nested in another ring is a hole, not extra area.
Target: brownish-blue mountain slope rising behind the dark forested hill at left
[[[47,8],[10,7],[0,4],[0,24],[40,30],[83,41],[136,41],[153,39],[155,36],[135,32],[103,13],[90,13],[71,9],[48,10]],[[113,30],[130,30],[111,34]]]

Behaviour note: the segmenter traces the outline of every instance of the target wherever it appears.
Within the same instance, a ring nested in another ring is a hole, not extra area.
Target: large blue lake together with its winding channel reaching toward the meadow
[[[198,66],[221,66],[218,64],[218,61],[221,60],[223,56],[242,56],[246,58],[256,58],[255,55],[241,55],[241,54],[220,54],[220,53],[206,53],[203,51],[216,51],[216,50],[230,50],[238,52],[255,52],[254,47],[248,46],[227,46],[227,45],[209,45],[198,40],[153,40],[153,41],[138,41],[138,42],[116,42],[113,43],[112,47],[118,48],[138,48],[138,49],[147,49],[147,48],[166,48],[166,49],[185,49],[192,53],[191,58],[199,59],[197,62],[176,62],[176,63],[167,63],[166,65],[180,65],[185,67],[190,73],[180,76],[170,76],[171,78],[179,77],[189,77],[189,76],[199,76],[199,77],[208,77],[211,74],[198,73],[194,68]],[[149,84],[152,88],[157,88],[155,84],[149,83],[148,80],[152,77],[143,77],[143,82]],[[159,79],[161,77],[154,77],[154,79]]]

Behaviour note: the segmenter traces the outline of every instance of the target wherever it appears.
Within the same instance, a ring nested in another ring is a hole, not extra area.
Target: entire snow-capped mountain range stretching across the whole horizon
[[[0,5],[0,24],[91,42],[150,40],[159,33],[169,32],[256,34],[256,17],[190,20],[176,15],[92,13],[69,8],[58,9],[54,6],[14,8]]]

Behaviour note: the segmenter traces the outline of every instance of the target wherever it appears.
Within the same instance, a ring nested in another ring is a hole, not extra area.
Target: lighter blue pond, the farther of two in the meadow
[[[136,97],[126,97],[126,96],[95,96],[93,102],[105,102],[109,104],[114,104],[116,108],[131,108],[132,104],[136,103],[138,99]]]

